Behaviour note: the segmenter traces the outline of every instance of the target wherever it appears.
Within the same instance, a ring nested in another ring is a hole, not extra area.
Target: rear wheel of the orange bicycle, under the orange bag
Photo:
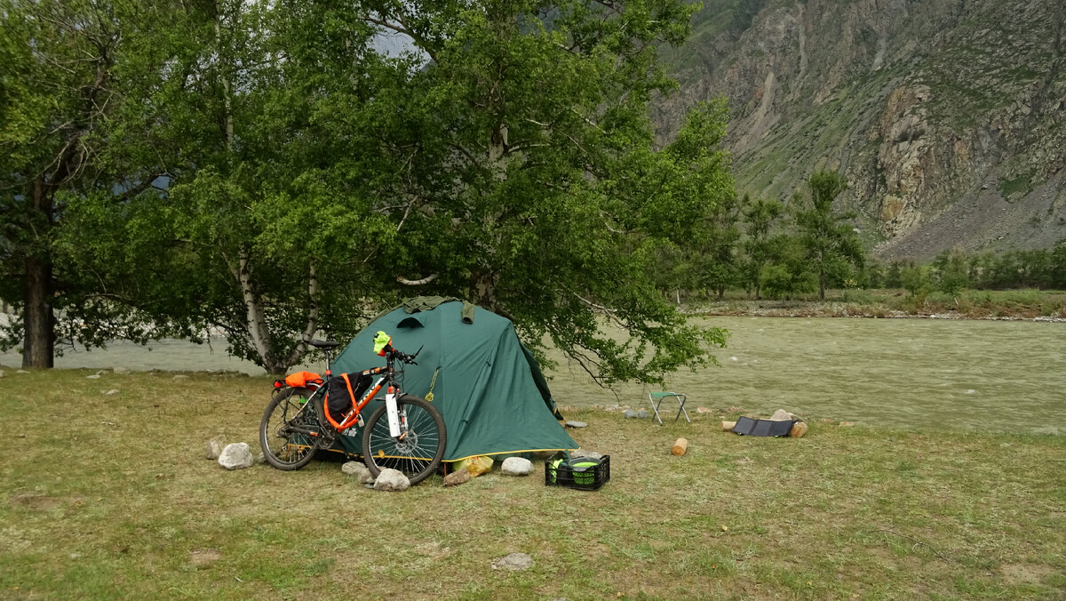
[[[281,391],[266,406],[259,423],[259,446],[266,462],[278,470],[298,470],[306,465],[322,444],[321,437],[292,431],[291,426],[321,431],[312,404],[306,398],[310,391],[288,389]],[[305,399],[301,402],[301,399]]]

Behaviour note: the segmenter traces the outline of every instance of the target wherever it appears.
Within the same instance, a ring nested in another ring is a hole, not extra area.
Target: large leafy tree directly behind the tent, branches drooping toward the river
[[[723,333],[688,326],[647,278],[732,195],[722,102],[652,148],[647,105],[673,85],[657,48],[684,38],[692,5],[367,6],[427,57],[342,130],[381,127],[378,151],[403,167],[397,269],[507,315],[527,343],[549,337],[603,383],[704,364]]]

